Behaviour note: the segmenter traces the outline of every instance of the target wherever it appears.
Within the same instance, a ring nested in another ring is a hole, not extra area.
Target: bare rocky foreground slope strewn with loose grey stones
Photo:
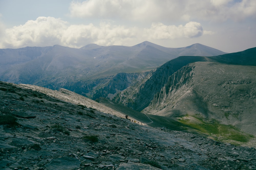
[[[0,82],[1,115],[17,117],[0,125],[0,169],[256,169],[254,148],[134,123],[67,90],[54,98],[29,88]]]

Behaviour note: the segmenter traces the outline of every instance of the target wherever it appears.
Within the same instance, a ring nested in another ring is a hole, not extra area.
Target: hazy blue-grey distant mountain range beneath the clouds
[[[99,88],[108,86],[105,84],[116,74],[126,73],[129,80],[125,80],[124,86],[115,87],[112,95],[103,95],[111,98],[135,82],[137,75],[133,73],[150,71],[181,55],[221,54],[225,53],[201,44],[166,48],[147,41],[131,47],[89,44],[80,49],[59,45],[0,49],[0,80],[51,89],[66,88],[95,99],[102,96]]]

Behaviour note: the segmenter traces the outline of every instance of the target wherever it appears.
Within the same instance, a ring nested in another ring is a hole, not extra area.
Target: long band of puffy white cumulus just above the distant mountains
[[[153,23],[150,28],[126,27],[101,22],[94,24],[70,25],[68,22],[54,17],[38,17],[24,25],[4,30],[0,48],[19,48],[26,46],[52,46],[55,44],[82,47],[89,43],[98,45],[125,45],[133,40],[163,40],[175,38],[193,38],[210,33],[204,31],[198,22],[185,25],[164,25]]]

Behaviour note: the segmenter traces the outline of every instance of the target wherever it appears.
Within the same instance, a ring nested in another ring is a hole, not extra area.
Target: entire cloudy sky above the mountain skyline
[[[256,47],[256,0],[0,0],[0,48]]]

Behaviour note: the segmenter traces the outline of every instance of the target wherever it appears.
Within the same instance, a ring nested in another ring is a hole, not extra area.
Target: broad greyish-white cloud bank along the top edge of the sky
[[[80,18],[113,19],[131,21],[176,21],[183,19],[237,21],[255,17],[255,0],[87,0],[73,1],[70,16]]]

